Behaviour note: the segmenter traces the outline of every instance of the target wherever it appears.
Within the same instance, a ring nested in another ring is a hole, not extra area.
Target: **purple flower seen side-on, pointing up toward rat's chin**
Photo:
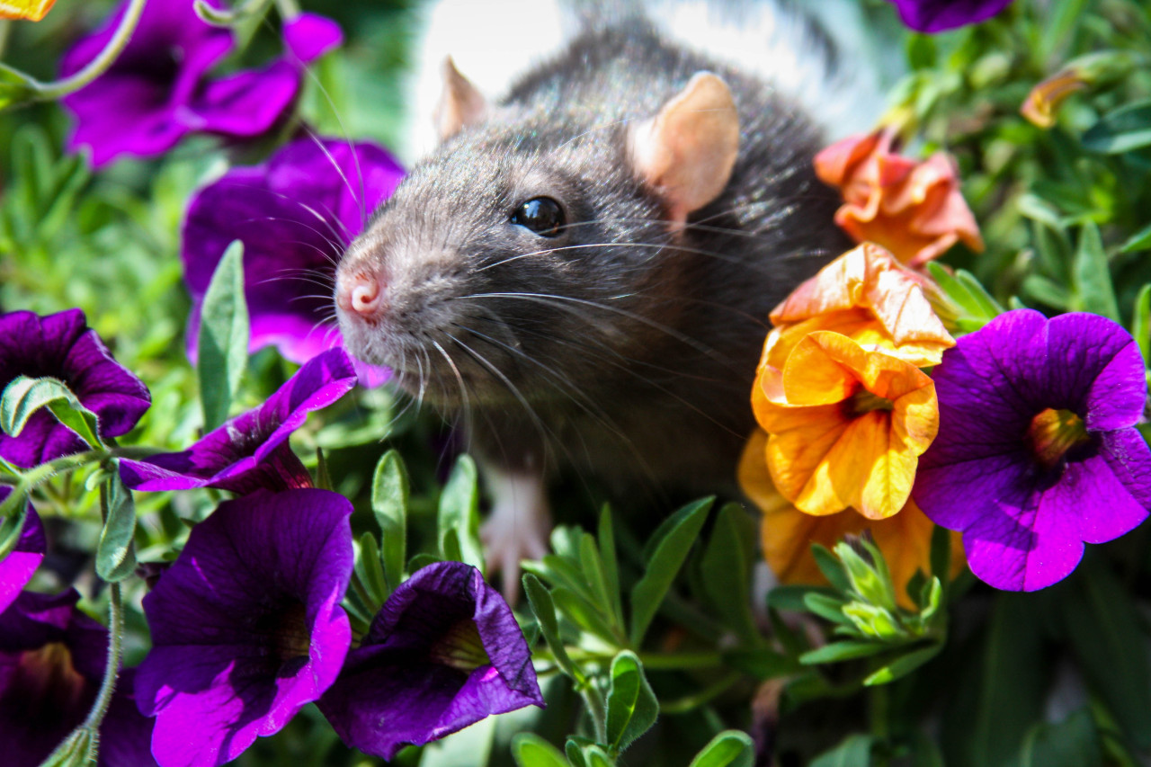
[[[122,460],[132,489],[219,487],[234,493],[311,487],[312,478],[288,445],[307,413],[327,408],[356,386],[351,357],[329,349],[304,364],[267,402],[223,423],[182,453]]]

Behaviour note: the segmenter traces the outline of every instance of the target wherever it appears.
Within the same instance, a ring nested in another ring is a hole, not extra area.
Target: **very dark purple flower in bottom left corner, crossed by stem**
[[[76,609],[75,590],[24,592],[0,614],[0,753],[12,767],[36,767],[79,726],[104,677],[108,632]],[[131,699],[131,669],[100,727],[101,767],[154,766],[152,723]]]

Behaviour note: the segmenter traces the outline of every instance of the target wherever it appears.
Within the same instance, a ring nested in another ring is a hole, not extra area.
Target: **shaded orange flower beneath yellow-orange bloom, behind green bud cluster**
[[[826,583],[811,556],[811,544],[831,548],[845,536],[870,531],[891,570],[899,605],[914,608],[906,586],[916,570],[925,574],[931,571],[931,533],[935,529],[931,521],[910,500],[899,514],[886,519],[868,519],[852,509],[823,517],[803,514],[780,495],[771,483],[767,447],[768,435],[757,430],[740,458],[739,484],[763,514],[763,557],[779,582]],[[963,564],[963,537],[952,532],[952,578],[960,574]]]

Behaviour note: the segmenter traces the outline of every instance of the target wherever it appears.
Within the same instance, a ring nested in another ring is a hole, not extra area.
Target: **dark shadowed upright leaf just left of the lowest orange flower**
[[[744,507],[738,503],[724,506],[700,563],[703,591],[711,605],[724,623],[752,645],[761,641],[749,593],[755,531],[756,522]]]

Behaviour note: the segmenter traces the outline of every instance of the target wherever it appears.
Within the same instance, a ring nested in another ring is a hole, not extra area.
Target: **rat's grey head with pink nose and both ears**
[[[451,64],[442,143],[340,263],[349,350],[443,404],[556,396],[666,334],[687,215],[727,183],[739,124],[700,73],[646,120],[489,107]]]

